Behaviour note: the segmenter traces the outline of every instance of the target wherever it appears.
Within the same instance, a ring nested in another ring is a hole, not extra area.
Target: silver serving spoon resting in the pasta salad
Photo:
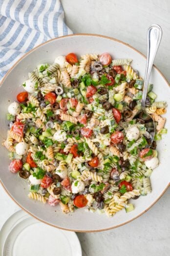
[[[148,85],[149,85],[149,78],[150,73],[153,65],[154,58],[156,56],[156,52],[158,51],[159,44],[161,42],[162,38],[162,29],[159,25],[152,25],[148,29],[147,34],[147,43],[148,43],[148,49],[147,49],[147,64],[146,64],[146,71],[145,71],[145,79],[144,79],[144,88],[143,88],[143,94],[142,94],[142,110],[137,115],[144,116],[145,120],[149,120],[151,122],[148,123],[148,131],[150,133],[150,145],[153,142],[154,135],[155,135],[155,124],[152,119],[152,117],[147,113],[146,111],[146,99],[147,99],[147,93],[148,93]],[[150,147],[150,145],[148,145]]]

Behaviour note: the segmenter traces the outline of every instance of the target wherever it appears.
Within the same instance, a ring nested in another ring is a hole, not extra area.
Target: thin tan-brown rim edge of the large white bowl
[[[5,74],[5,76],[1,79],[0,81],[0,87],[3,83],[3,81],[6,79],[6,77],[10,74],[10,72],[15,68],[15,66],[17,66],[17,64],[26,56],[28,55],[30,52],[32,51],[35,51],[36,49],[38,49],[39,47],[51,42],[51,41],[54,41],[54,40],[58,40],[58,39],[61,39],[61,38],[66,38],[66,37],[76,37],[76,36],[96,36],[96,37],[102,37],[102,38],[106,38],[106,39],[109,39],[109,40],[112,40],[112,41],[116,41],[118,43],[121,43],[129,48],[131,48],[133,51],[136,51],[138,52],[140,55],[142,55],[144,58],[147,58],[142,52],[138,51],[137,49],[135,49],[134,47],[130,46],[129,44],[121,41],[121,40],[118,40],[118,39],[115,39],[113,37],[109,37],[109,36],[105,36],[105,35],[100,35],[100,34],[90,34],[90,33],[77,33],[77,34],[70,34],[70,35],[64,35],[64,36],[60,36],[60,37],[55,37],[55,38],[52,38],[38,46],[36,46],[35,48],[33,48],[32,50],[26,52],[23,56],[21,56],[21,58],[19,58],[15,64],[8,70],[8,72]],[[164,75],[162,74],[162,72],[155,66],[153,65],[153,67],[158,71],[158,73],[164,78],[165,82],[167,83],[168,86],[170,86],[168,80],[164,77]],[[166,188],[163,190],[163,192],[161,193],[161,195],[151,204],[149,205],[148,208],[146,208],[143,212],[141,212],[140,214],[138,214],[136,217],[124,222],[124,223],[121,223],[119,225],[115,225],[115,226],[112,226],[110,228],[106,228],[106,229],[100,229],[100,230],[73,230],[73,229],[66,229],[66,228],[61,228],[61,227],[58,227],[57,225],[53,225],[53,224],[50,224],[46,221],[43,221],[42,219],[39,219],[38,217],[36,217],[35,215],[33,215],[31,212],[29,212],[27,209],[23,208],[23,206],[21,206],[13,197],[12,195],[10,195],[10,193],[7,191],[6,187],[4,186],[4,184],[2,183],[2,181],[0,180],[0,184],[1,186],[3,187],[3,189],[5,190],[5,192],[8,194],[8,196],[22,209],[24,210],[26,213],[28,213],[29,215],[31,215],[33,218],[49,225],[49,226],[52,226],[54,228],[58,228],[58,229],[61,229],[61,230],[68,230],[68,231],[74,231],[74,232],[86,232],[86,233],[89,233],[89,232],[99,232],[99,231],[106,231],[106,230],[111,230],[111,229],[115,229],[115,228],[118,228],[118,227],[121,227],[135,219],[137,219],[138,217],[140,217],[141,215],[143,215],[145,212],[147,212],[154,204],[156,204],[158,202],[158,200],[164,195],[164,193],[167,191],[167,189],[169,188],[170,186],[170,182],[169,184],[166,186]]]

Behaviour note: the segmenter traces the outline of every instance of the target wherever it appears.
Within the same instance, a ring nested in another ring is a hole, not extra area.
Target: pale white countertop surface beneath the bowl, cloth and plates
[[[168,58],[170,1],[61,0],[67,25],[75,33],[96,33],[122,40],[146,54],[146,33],[159,24],[163,38],[155,64],[170,80]],[[169,12],[168,12],[169,8]],[[145,214],[125,226],[98,233],[78,233],[83,256],[168,256],[170,189]],[[0,228],[20,208],[0,186]]]

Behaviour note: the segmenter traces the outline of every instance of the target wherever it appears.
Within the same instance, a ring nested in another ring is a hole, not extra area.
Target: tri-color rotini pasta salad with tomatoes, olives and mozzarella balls
[[[167,103],[155,101],[149,84],[152,142],[151,119],[140,112],[144,80],[131,61],[69,53],[28,73],[8,106],[2,144],[9,170],[27,180],[30,199],[60,205],[64,213],[85,207],[113,216],[133,210],[129,199],[151,192]]]

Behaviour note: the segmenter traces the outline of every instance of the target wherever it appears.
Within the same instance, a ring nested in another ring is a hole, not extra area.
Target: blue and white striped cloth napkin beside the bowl
[[[67,34],[60,0],[0,0],[0,79],[25,52]]]

